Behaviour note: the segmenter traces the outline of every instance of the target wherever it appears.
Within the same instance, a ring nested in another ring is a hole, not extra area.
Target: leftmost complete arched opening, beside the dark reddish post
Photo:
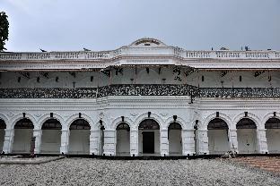
[[[13,153],[30,153],[34,125],[30,119],[23,118],[14,125]]]

